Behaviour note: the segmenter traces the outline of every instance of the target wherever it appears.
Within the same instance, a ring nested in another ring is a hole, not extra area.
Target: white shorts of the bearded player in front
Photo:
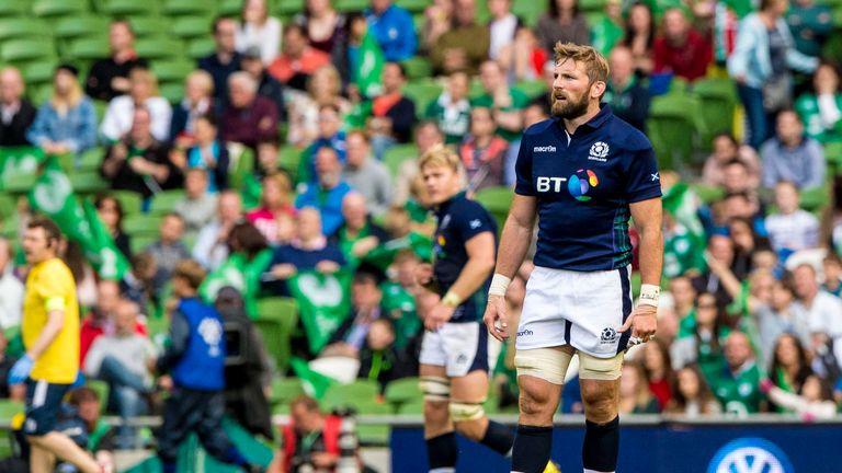
[[[629,268],[573,272],[536,266],[526,282],[517,326],[519,350],[572,345],[598,358],[626,349],[632,331],[618,333],[632,313]]]

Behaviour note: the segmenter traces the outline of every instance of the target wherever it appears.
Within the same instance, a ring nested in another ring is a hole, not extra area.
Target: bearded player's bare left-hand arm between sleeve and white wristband
[[[503,224],[503,234],[500,238],[500,251],[497,253],[497,269],[494,273],[511,279],[521,267],[532,242],[532,230],[535,227],[535,197],[520,194],[514,195],[512,208],[509,210],[509,217],[507,217]]]

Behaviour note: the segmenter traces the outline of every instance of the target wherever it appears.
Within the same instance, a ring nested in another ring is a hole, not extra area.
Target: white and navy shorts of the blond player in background
[[[450,378],[475,370],[488,372],[497,362],[500,346],[480,322],[446,323],[436,332],[424,332],[419,361],[445,367]]]

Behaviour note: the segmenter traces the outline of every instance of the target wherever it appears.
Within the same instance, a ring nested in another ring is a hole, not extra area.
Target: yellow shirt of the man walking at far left
[[[38,339],[53,310],[65,312],[65,324],[49,347],[35,360],[30,378],[56,384],[70,384],[79,371],[79,303],[76,281],[59,258],[32,267],[26,277],[21,332],[29,349]]]

